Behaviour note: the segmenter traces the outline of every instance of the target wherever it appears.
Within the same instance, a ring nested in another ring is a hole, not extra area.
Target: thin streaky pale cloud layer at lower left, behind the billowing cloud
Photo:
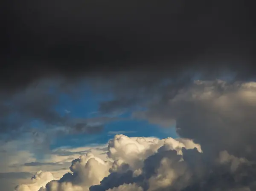
[[[13,191],[16,185],[26,187],[33,183],[32,175],[40,170],[49,171],[58,180],[70,171],[72,160],[87,152],[102,160],[108,160],[107,155],[103,154],[107,146],[104,144],[42,150],[41,144],[35,144],[35,140],[29,134],[21,134],[17,140],[0,141],[0,190]],[[42,157],[44,152],[46,154]]]

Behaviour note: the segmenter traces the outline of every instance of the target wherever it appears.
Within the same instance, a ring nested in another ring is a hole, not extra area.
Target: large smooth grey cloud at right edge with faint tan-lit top
[[[152,123],[175,123],[181,137],[195,140],[205,152],[218,154],[224,149],[254,160],[254,84],[197,81],[180,89],[175,97],[152,103],[138,117],[144,115]]]

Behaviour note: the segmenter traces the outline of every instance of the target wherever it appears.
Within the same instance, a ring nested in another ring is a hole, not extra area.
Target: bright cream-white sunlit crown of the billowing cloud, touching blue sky
[[[182,154],[182,148],[198,148],[198,144],[187,139],[173,139],[171,137],[159,140],[155,137],[127,137],[116,135],[108,144],[108,157],[113,160],[122,160],[134,169],[142,168],[143,161],[150,155],[157,152],[159,148],[165,150],[176,150]]]

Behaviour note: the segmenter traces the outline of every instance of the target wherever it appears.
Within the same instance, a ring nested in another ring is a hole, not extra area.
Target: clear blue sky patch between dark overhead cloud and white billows
[[[132,117],[131,111],[125,111],[124,113],[112,114],[100,114],[98,113],[100,101],[107,100],[104,96],[95,97],[90,93],[89,88],[84,90],[86,94],[79,100],[70,100],[65,96],[61,99],[61,105],[56,106],[59,112],[66,112],[73,118],[83,118],[91,120],[91,125],[103,125],[104,128],[99,133],[94,134],[75,134],[64,135],[58,137],[55,143],[51,145],[51,148],[58,148],[60,146],[84,146],[87,144],[105,144],[115,134],[132,135],[133,137],[160,137],[164,138],[177,137],[174,126],[170,125],[169,128],[159,128],[159,125],[148,123],[146,120],[138,120]],[[105,99],[104,99],[105,98]],[[109,117],[105,120],[104,117]],[[96,120],[93,120],[96,118]],[[113,119],[111,119],[113,118]],[[102,121],[101,121],[102,120]]]

